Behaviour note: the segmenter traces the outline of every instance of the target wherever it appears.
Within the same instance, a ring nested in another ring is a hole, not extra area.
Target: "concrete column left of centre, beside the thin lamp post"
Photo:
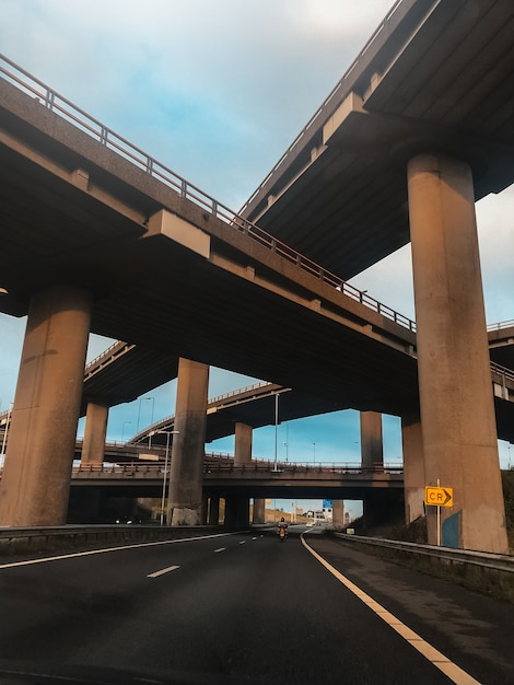
[[[175,430],[170,473],[171,525],[201,522],[203,461],[206,456],[207,395],[209,367],[178,360]]]

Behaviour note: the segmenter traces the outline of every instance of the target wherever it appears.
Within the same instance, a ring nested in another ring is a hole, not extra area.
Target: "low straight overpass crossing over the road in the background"
[[[118,511],[124,499],[133,509],[136,498],[166,501],[170,469],[165,461],[74,466],[69,513],[78,521],[97,520]],[[254,500],[254,523],[265,522],[265,500],[334,499],[362,500],[366,524],[383,522],[404,509],[404,474],[398,465],[293,464],[254,460],[237,465],[233,458],[206,453],[202,483],[202,522],[219,523],[224,501],[224,523],[246,525]],[[110,502],[110,504],[108,503]],[[121,503],[120,503],[121,502]],[[165,507],[164,507],[165,509]],[[342,507],[336,504],[335,521],[342,525]]]

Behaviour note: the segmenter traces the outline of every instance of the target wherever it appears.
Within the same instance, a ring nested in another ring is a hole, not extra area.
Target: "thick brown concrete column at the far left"
[[[92,297],[72,287],[34,294],[0,484],[0,524],[66,523]]]

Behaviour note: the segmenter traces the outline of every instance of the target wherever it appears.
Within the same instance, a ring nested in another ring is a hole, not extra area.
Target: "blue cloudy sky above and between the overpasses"
[[[329,94],[392,0],[0,0],[8,58],[237,210]],[[488,323],[514,320],[514,190],[477,206]],[[414,318],[410,249],[353,282]],[[24,321],[0,315],[0,409],[14,398]],[[89,359],[109,340],[91,337]],[[272,380],[272,379],[264,379]],[[210,396],[250,383],[211,371]],[[174,411],[175,383],[112,409],[108,439]],[[79,431],[83,430],[81,422]],[[279,458],[355,462],[355,411],[279,427]],[[314,443],[314,444],[313,444]],[[399,421],[384,419],[387,461]],[[233,439],[208,449],[233,451]],[[254,434],[273,457],[274,428]],[[500,443],[501,462],[509,460]],[[514,456],[514,455],[513,455]]]

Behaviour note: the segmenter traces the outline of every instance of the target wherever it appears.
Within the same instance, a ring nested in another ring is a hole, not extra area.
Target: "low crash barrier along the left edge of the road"
[[[153,525],[62,525],[0,529],[0,556],[87,549],[151,542],[197,537],[212,532],[211,526],[167,527]],[[1,562],[0,562],[1,566]]]

